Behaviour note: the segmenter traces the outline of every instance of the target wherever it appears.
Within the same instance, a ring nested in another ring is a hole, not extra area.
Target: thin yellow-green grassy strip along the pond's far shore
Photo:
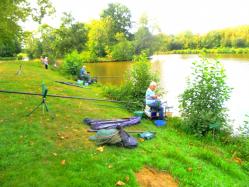
[[[182,49],[158,52],[157,54],[249,54],[249,48]]]

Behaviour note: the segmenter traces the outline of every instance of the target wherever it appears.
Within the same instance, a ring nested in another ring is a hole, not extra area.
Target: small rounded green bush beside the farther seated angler
[[[81,55],[77,51],[73,51],[66,55],[63,61],[62,69],[70,75],[78,75],[82,66]]]

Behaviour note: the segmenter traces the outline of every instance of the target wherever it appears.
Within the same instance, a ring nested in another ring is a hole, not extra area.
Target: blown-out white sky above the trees
[[[184,31],[206,33],[238,25],[249,25],[248,0],[51,0],[56,14],[45,18],[43,23],[53,27],[60,25],[63,12],[70,12],[76,21],[87,23],[98,19],[109,3],[127,6],[132,21],[138,22],[146,14],[150,25],[157,25],[166,34]],[[24,24],[26,30],[38,25],[32,21]]]

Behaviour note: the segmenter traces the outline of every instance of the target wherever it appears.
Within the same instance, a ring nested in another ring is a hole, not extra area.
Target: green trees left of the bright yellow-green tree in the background
[[[39,37],[38,37],[39,36]],[[41,25],[37,32],[25,32],[25,51],[31,58],[41,55],[50,59],[63,57],[65,54],[85,49],[87,28],[83,23],[74,23],[71,14],[64,13],[62,24],[55,29],[47,24]]]

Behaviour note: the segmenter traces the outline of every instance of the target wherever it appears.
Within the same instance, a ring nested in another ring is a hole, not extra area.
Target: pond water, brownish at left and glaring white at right
[[[211,58],[211,57],[210,57]],[[178,96],[186,88],[187,77],[191,75],[192,62],[198,60],[198,55],[155,55],[151,63],[153,70],[160,75],[160,85],[166,91],[166,100],[173,106],[173,113],[178,113]],[[222,55],[218,58],[224,64],[227,83],[233,88],[230,100],[226,103],[229,116],[237,128],[249,114],[249,56]],[[124,80],[129,62],[107,62],[88,64],[87,70],[92,76],[99,76],[102,84],[120,85]]]

